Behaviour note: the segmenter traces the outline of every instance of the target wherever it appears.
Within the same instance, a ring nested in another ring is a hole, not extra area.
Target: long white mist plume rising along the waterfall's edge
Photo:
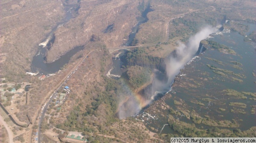
[[[166,75],[168,80],[166,79],[159,79],[157,78],[157,74],[155,74],[152,87],[148,90],[148,97],[144,97],[144,101],[146,103],[150,103],[152,98],[154,98],[157,93],[166,93],[168,92],[172,81],[174,80],[175,76],[180,72],[180,69],[184,67],[184,65],[192,59],[192,56],[195,55],[196,51],[198,50],[200,41],[206,39],[209,34],[217,32],[217,28],[212,28],[210,26],[204,27],[196,33],[194,36],[189,38],[189,41],[185,44],[178,42],[179,46],[176,48],[175,56],[170,56],[169,59],[166,60]],[[154,70],[154,73],[159,72],[158,70]],[[150,96],[150,97],[149,97]],[[125,99],[121,99],[119,102],[119,109],[118,109],[118,117],[120,119],[129,117],[131,115],[137,114],[141,110],[140,103],[133,93],[130,93],[130,98],[125,101]]]

